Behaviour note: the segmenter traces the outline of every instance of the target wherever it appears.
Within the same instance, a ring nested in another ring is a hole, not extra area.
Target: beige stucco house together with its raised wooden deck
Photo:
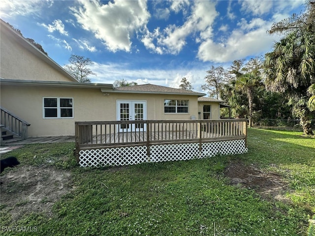
[[[2,20],[0,68],[1,135],[75,135],[80,166],[247,151],[247,121],[220,120],[223,101],[151,84],[80,83]]]

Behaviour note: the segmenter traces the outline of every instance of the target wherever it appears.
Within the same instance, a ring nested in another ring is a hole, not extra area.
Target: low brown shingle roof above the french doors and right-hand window
[[[169,93],[169,94],[185,94],[185,95],[196,95],[196,96],[204,96],[204,93],[194,92],[185,89],[174,89],[165,86],[159,85],[135,85],[135,86],[126,86],[126,87],[118,87],[115,88],[114,91],[129,91],[129,92],[147,92],[147,93]]]

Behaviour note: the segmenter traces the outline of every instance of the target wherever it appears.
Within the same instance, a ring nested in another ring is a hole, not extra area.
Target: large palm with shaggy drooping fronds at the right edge
[[[285,92],[291,99],[307,96],[307,88],[315,83],[315,35],[306,29],[287,34],[265,55],[266,88]],[[302,101],[295,99],[296,101]],[[292,103],[292,114],[300,118],[304,134],[313,135],[310,110],[306,103]],[[295,106],[295,107],[294,107]]]

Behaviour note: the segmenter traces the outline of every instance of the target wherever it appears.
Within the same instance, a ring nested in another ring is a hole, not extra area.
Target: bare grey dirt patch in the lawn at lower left
[[[1,211],[17,220],[31,212],[52,216],[52,206],[71,191],[69,171],[47,166],[18,166],[1,176]]]

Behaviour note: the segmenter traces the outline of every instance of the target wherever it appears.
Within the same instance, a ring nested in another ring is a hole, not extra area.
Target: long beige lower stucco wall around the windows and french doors
[[[29,136],[74,135],[75,121],[116,120],[117,100],[147,101],[147,119],[198,118],[197,96],[102,93],[99,89],[1,86],[0,105],[31,123]],[[43,97],[73,98],[74,118],[43,118]],[[164,114],[164,99],[189,100],[189,114]]]

